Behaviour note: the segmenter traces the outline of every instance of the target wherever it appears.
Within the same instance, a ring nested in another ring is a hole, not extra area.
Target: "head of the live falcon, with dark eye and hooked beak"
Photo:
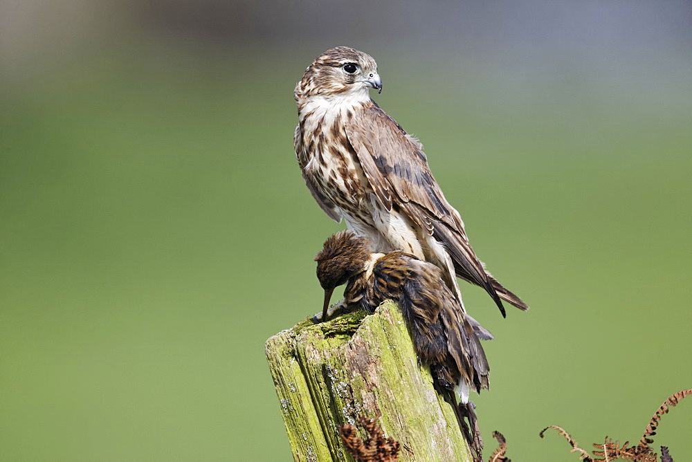
[[[315,59],[295,87],[296,95],[354,95],[367,97],[369,89],[382,91],[377,63],[362,51],[337,46]]]

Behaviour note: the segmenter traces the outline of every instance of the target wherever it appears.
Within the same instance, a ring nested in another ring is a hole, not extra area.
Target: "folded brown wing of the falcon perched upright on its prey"
[[[430,173],[423,147],[415,138],[374,102],[347,120],[346,135],[386,210],[392,210],[392,204],[397,204],[414,223],[443,243],[452,257],[457,276],[487,290],[503,313],[500,297],[504,294],[518,301],[509,297],[508,302],[520,308],[520,304],[525,306],[516,295],[486,274],[468,243],[464,222],[444,198]]]

